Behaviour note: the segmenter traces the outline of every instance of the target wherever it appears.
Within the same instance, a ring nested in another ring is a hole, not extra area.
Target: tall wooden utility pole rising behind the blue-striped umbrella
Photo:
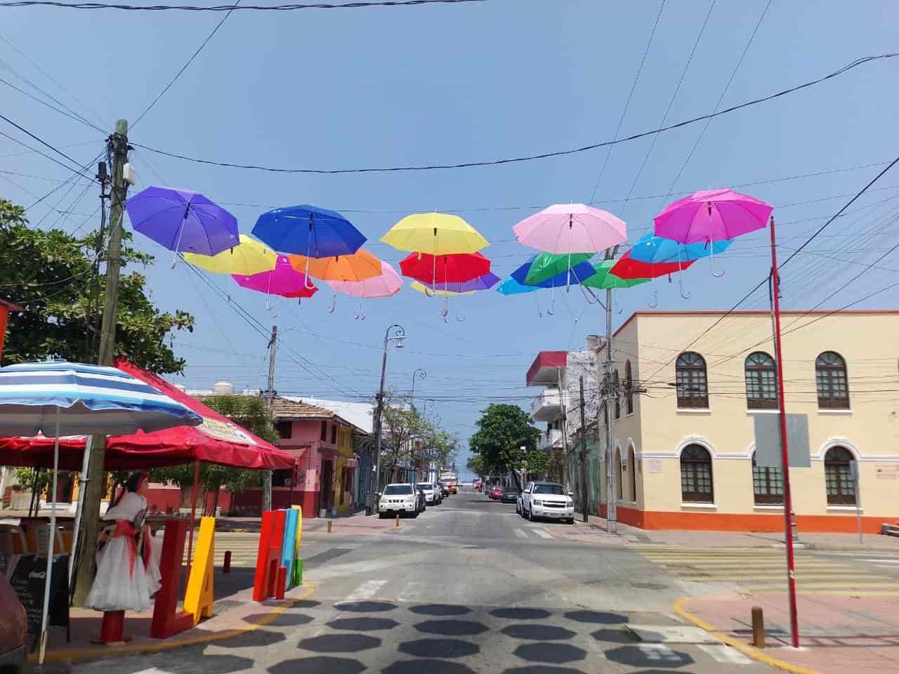
[[[128,120],[115,123],[115,133],[106,140],[112,160],[112,185],[110,193],[110,242],[106,253],[106,285],[103,294],[103,319],[100,328],[100,353],[97,362],[112,366],[115,361],[115,328],[118,319],[119,271],[121,268],[121,236],[125,217],[125,197],[128,183],[125,182],[124,168],[128,163]],[[104,187],[101,186],[101,190]],[[96,560],[93,551],[97,547],[97,533],[100,529],[100,501],[106,491],[103,473],[103,458],[106,455],[106,436],[95,435],[89,445],[90,459],[88,474],[93,474],[85,484],[82,531],[84,540],[78,549],[81,560],[76,572],[76,590],[73,598],[75,606],[84,606],[91,591],[93,576],[96,575]],[[85,450],[86,451],[86,450]]]

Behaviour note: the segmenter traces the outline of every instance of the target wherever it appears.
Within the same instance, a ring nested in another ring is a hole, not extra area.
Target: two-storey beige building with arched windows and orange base
[[[810,440],[811,466],[790,470],[799,531],[855,531],[857,508],[867,532],[895,522],[899,311],[785,312],[781,325],[787,412],[807,415]],[[753,466],[753,418],[778,413],[770,314],[637,312],[612,353],[619,381],[645,388],[613,409],[619,521],[782,530],[782,470]]]

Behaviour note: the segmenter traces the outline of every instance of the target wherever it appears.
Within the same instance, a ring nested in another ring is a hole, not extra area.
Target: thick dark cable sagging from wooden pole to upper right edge
[[[2,5],[0,5],[2,6]],[[141,145],[139,143],[132,143],[134,146],[142,147],[149,152],[156,153],[157,155],[170,156],[174,159],[183,159],[184,161],[193,162],[195,164],[208,164],[212,166],[221,166],[225,168],[238,168],[238,169],[249,169],[254,171],[265,171],[268,173],[323,173],[323,174],[336,174],[336,173],[398,173],[405,171],[432,171],[436,169],[457,169],[457,168],[471,168],[474,166],[496,166],[502,164],[517,164],[521,162],[530,162],[536,161],[539,159],[547,159],[550,157],[556,156],[565,156],[565,155],[576,155],[582,152],[588,152],[590,150],[595,150],[599,147],[608,147],[608,146],[616,146],[621,143],[627,143],[631,140],[636,140],[637,138],[643,138],[648,136],[654,136],[659,133],[663,133],[664,131],[670,131],[672,129],[680,129],[681,127],[689,126],[690,124],[695,124],[699,121],[710,120],[716,117],[720,117],[721,115],[728,114],[730,112],[743,110],[743,108],[748,108],[753,105],[758,105],[763,102],[773,101],[774,99],[780,98],[782,96],[786,96],[790,93],[796,93],[803,89],[807,89],[815,84],[821,84],[830,80],[834,77],[838,77],[843,75],[853,68],[871,63],[873,61],[885,60],[888,58],[895,58],[899,56],[899,52],[890,52],[886,54],[880,54],[878,56],[872,57],[863,57],[857,58],[846,66],[841,67],[839,70],[835,70],[828,75],[823,75],[814,80],[810,80],[804,84],[797,84],[797,86],[792,86],[788,89],[784,89],[779,91],[778,93],[771,93],[768,96],[763,96],[761,98],[752,99],[752,101],[747,101],[743,103],[738,103],[736,105],[732,105],[729,108],[725,108],[725,110],[717,111],[717,112],[709,112],[708,114],[699,115],[699,117],[691,118],[690,120],[683,120],[674,124],[670,124],[666,127],[661,127],[659,129],[654,129],[651,131],[643,131],[640,133],[632,134],[628,137],[623,137],[615,140],[606,140],[600,143],[593,143],[592,145],[575,147],[574,149],[569,150],[557,150],[555,152],[545,152],[539,155],[525,155],[518,157],[509,157],[503,159],[491,159],[485,161],[470,161],[470,162],[461,162],[458,164],[423,164],[423,165],[409,165],[409,166],[388,166],[388,167],[371,167],[371,168],[343,168],[343,169],[322,169],[322,168],[277,168],[271,166],[262,166],[259,164],[236,164],[229,162],[218,162],[213,161],[211,159],[202,159],[198,157],[191,157],[187,155],[179,155],[174,152],[166,152],[165,150],[156,149],[155,147],[150,147],[146,145]]]

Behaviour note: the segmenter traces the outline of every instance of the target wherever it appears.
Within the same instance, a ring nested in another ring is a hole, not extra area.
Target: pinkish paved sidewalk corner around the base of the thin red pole
[[[764,610],[762,650],[750,645],[753,606]],[[899,671],[899,597],[800,595],[797,611],[798,650],[790,645],[786,593],[681,599],[675,607],[675,613],[725,643],[779,669],[824,674]]]

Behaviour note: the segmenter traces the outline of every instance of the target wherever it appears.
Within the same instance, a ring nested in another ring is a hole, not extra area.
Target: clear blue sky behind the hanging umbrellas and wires
[[[668,113],[668,121],[715,108],[749,39],[765,0],[718,2]],[[668,2],[636,84],[622,135],[654,129],[663,119],[709,3]],[[130,137],[171,152],[245,164],[289,167],[368,167],[492,159],[583,146],[613,137],[634,82],[659,4],[592,0],[489,0],[485,3],[234,13],[191,67]],[[60,89],[0,40],[0,77],[31,91],[35,84],[103,129],[137,119],[220,20],[218,13],[125,13],[49,8],[3,9],[0,35],[65,88]],[[724,96],[743,102],[836,70],[855,58],[895,50],[899,8],[888,2],[774,0]],[[881,166],[781,182],[788,176],[883,164],[896,154],[895,60],[859,67],[814,88],[713,120],[675,192],[761,182],[740,188],[777,208],[784,251],[823,223]],[[86,163],[102,136],[0,84],[4,114]],[[32,92],[34,93],[34,92]],[[36,93],[40,96],[40,93]],[[92,112],[76,102],[85,102]],[[101,123],[102,121],[102,123]],[[644,138],[616,146],[597,200],[628,221],[636,240],[663,207],[663,195],[702,125],[664,133],[634,185],[646,150]],[[0,122],[0,130],[22,135]],[[33,145],[33,141],[28,140]],[[80,144],[72,146],[73,144]],[[67,147],[68,146],[68,147]],[[0,137],[0,170],[65,179],[40,155],[16,155],[21,146]],[[138,150],[132,161],[138,188],[167,184],[201,191],[232,204],[249,232],[266,208],[314,203],[343,211],[369,236],[367,247],[388,262],[402,257],[378,238],[405,214],[437,209],[461,215],[494,241],[484,253],[503,276],[532,252],[512,241],[512,225],[555,202],[590,200],[606,150],[525,164],[422,173],[285,175],[190,164]],[[14,186],[8,181],[15,182]],[[0,173],[0,195],[29,204],[55,183]],[[625,202],[628,193],[632,199]],[[22,189],[23,188],[23,189]],[[23,191],[24,190],[24,191]],[[73,230],[96,208],[96,191],[78,186],[59,207]],[[52,206],[30,211],[37,224]],[[656,198],[646,199],[660,195]],[[899,174],[888,174],[784,271],[788,308],[827,297],[895,244]],[[241,205],[237,205],[241,204]],[[859,207],[868,207],[855,210]],[[812,219],[819,218],[819,219]],[[57,221],[54,213],[41,226]],[[93,226],[95,220],[89,225]],[[746,236],[711,279],[699,262],[685,274],[692,292],[661,279],[619,293],[619,324],[657,293],[671,309],[728,308],[763,279],[769,262],[767,232]],[[178,334],[175,350],[188,361],[188,386],[226,378],[236,386],[264,386],[265,341],[180,264],[137,235],[138,247],[157,253],[148,271],[158,306],[197,318],[193,334]],[[847,262],[853,261],[853,262]],[[848,304],[896,278],[899,256],[880,262],[824,306]],[[444,324],[441,300],[405,289],[371,300],[364,322],[353,319],[351,299],[330,293],[297,306],[283,300],[266,310],[264,297],[213,278],[265,325],[278,324],[289,347],[336,381],[310,377],[295,354],[278,363],[276,387],[295,395],[371,396],[378,386],[380,345],[388,324],[400,323],[407,348],[393,351],[388,382],[408,389],[414,368],[419,404],[438,399],[436,411],[462,438],[479,410],[507,398],[527,405],[524,374],[539,350],[565,350],[601,333],[603,317],[580,293],[557,294],[556,314],[538,315],[535,296],[487,292],[450,303],[464,322]],[[895,306],[887,292],[859,306]],[[539,293],[541,308],[549,305]],[[767,306],[767,292],[747,307]],[[574,319],[576,320],[576,323]],[[672,336],[687,343],[692,335]],[[738,340],[733,335],[723,338]],[[675,344],[677,346],[677,344]],[[286,351],[286,350],[282,350]],[[430,411],[430,408],[429,408]]]

